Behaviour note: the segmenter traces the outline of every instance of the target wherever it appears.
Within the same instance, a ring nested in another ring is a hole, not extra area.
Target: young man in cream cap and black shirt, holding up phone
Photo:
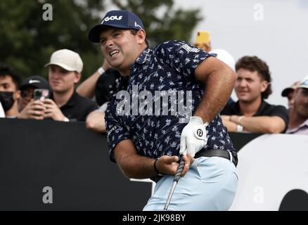
[[[75,91],[83,67],[79,54],[68,49],[55,51],[45,67],[49,68],[49,84],[53,91],[51,99],[44,101],[44,118],[65,122],[85,121],[97,105]]]

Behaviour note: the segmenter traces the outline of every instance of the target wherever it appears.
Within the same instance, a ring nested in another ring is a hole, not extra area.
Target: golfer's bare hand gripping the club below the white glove
[[[188,172],[189,167],[193,163],[193,158],[191,155],[184,155],[185,166],[181,176],[185,176],[186,172]],[[163,155],[160,159],[156,162],[156,167],[161,174],[171,174],[175,175],[177,173],[177,167],[179,167],[179,158],[177,156],[168,156]]]

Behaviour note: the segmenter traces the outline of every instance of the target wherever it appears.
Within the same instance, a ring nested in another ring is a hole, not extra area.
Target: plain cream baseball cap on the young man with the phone
[[[75,51],[61,49],[51,55],[50,62],[45,67],[49,65],[58,65],[68,71],[82,72],[84,63],[82,63],[82,58]]]

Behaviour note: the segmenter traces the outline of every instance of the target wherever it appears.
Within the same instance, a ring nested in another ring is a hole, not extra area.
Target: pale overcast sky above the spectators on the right
[[[208,30],[212,49],[225,49],[236,60],[245,55],[265,60],[273,79],[267,101],[287,106],[281,91],[308,75],[308,0],[174,1],[177,7],[200,8],[203,13],[192,42],[197,30]]]

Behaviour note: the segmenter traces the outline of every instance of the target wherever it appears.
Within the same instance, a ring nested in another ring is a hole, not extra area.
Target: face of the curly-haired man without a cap
[[[234,90],[238,99],[245,103],[252,103],[257,98],[261,98],[261,94],[267,89],[268,84],[259,77],[258,72],[240,68],[237,74]]]

